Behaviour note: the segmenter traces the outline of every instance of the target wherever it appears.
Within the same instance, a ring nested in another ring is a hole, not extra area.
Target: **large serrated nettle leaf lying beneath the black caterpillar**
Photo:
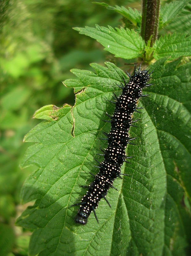
[[[30,255],[186,255],[191,228],[191,157],[190,157],[190,70],[191,64],[181,60],[157,61],[154,85],[139,101],[142,113],[138,128],[131,127],[136,145],[128,145],[130,164],[122,166],[129,174],[116,179],[107,199],[101,200],[96,215],[87,225],[75,224],[77,207],[96,174],[93,167],[102,131],[109,132],[105,111],[112,114],[112,92],[120,94],[116,85],[128,80],[114,64],[107,67],[91,64],[96,73],[72,69],[79,80],[64,82],[75,87],[76,102],[57,110],[57,120],[44,121],[32,129],[25,141],[30,146],[22,166],[38,167],[22,188],[24,202],[36,200],[17,220],[17,225],[33,229]],[[79,82],[78,82],[79,81]],[[76,89],[77,88],[77,89]],[[81,88],[81,89],[80,89]],[[102,157],[97,157],[102,161]]]

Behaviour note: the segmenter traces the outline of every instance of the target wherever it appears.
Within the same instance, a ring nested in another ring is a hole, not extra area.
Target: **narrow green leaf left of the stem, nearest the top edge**
[[[99,3],[99,2],[92,2],[93,4],[98,4],[106,7],[108,10],[113,10],[119,14],[121,14],[123,17],[127,18],[135,27],[137,25],[140,26],[141,24],[141,14],[138,10],[132,9],[131,7],[125,8],[124,6],[110,6],[106,3]]]

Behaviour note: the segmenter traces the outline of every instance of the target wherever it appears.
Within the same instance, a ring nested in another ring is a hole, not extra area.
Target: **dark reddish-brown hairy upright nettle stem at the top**
[[[145,43],[151,38],[150,47],[157,37],[160,0],[143,0],[141,36]]]

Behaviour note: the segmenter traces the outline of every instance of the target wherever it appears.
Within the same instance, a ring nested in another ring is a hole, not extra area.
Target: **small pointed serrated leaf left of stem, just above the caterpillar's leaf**
[[[75,27],[80,34],[90,36],[96,39],[105,48],[104,50],[111,52],[115,57],[124,59],[133,59],[140,57],[144,49],[144,40],[133,30],[128,28],[124,30],[122,27],[112,28],[110,26],[100,27]]]

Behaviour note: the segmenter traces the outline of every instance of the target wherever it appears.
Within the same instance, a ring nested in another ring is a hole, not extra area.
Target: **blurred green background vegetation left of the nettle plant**
[[[141,8],[137,1],[104,2]],[[1,256],[28,254],[30,231],[15,227],[14,222],[29,205],[20,202],[20,190],[35,167],[21,169],[19,162],[29,146],[23,137],[39,122],[32,119],[34,112],[47,104],[74,105],[73,90],[61,82],[73,77],[71,68],[91,69],[91,62],[116,63],[95,40],[72,29],[95,23],[122,25],[120,15],[88,0],[0,1]]]

